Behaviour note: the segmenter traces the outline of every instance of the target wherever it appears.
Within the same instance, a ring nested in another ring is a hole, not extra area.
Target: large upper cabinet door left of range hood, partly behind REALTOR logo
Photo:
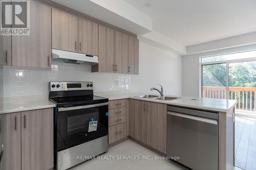
[[[51,7],[30,1],[30,35],[12,35],[12,65],[51,67]]]

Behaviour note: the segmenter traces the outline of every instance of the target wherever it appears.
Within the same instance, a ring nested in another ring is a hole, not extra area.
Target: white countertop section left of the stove
[[[53,108],[48,96],[23,96],[0,99],[0,114]]]

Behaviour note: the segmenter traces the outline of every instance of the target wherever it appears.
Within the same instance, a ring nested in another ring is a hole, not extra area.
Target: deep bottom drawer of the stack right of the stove
[[[127,136],[126,122],[109,127],[109,144]]]

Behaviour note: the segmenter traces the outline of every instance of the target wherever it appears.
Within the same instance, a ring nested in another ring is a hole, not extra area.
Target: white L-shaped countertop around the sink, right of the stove
[[[144,95],[144,94],[151,94],[151,93],[139,93],[139,92],[138,93],[136,93],[136,92],[132,92],[132,93],[100,93],[100,92],[97,92],[97,93],[95,93],[95,95],[102,96],[104,98],[108,98],[110,101],[119,100],[119,99],[137,99],[137,100],[143,100],[143,101],[148,101],[148,102],[163,103],[163,104],[167,104],[167,105],[199,108],[199,109],[220,111],[220,112],[229,112],[237,104],[237,101],[235,101],[235,100],[195,98],[195,97],[190,97],[190,96],[180,96],[180,99],[175,99],[172,101],[161,101],[161,100],[144,99],[144,98],[135,97],[137,95]],[[165,95],[165,96],[174,96],[174,95]]]

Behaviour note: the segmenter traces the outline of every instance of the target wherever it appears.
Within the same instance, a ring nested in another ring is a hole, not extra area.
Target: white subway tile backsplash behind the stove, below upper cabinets
[[[131,90],[131,76],[91,72],[90,65],[53,62],[52,69],[4,66],[4,97],[48,95],[51,81],[92,81],[94,91]]]

